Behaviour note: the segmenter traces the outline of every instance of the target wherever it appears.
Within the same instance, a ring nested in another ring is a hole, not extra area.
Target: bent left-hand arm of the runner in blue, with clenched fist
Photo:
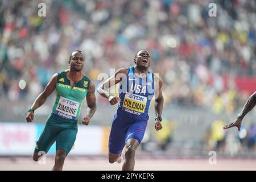
[[[105,98],[108,98],[110,101],[114,99],[116,99],[115,101],[117,101],[117,98],[115,98],[113,96],[113,93],[110,92],[110,88],[116,84],[118,84],[118,82],[122,81],[123,78],[126,77],[127,73],[129,71],[129,68],[122,68],[122,69],[118,69],[117,72],[115,72],[115,75],[108,78],[108,80],[104,81],[103,84],[101,84],[100,86],[98,86],[97,92]],[[110,104],[116,104],[115,102],[110,102]]]

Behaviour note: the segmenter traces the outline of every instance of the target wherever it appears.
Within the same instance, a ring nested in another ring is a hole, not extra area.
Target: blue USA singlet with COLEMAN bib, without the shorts
[[[130,67],[126,78],[119,86],[121,101],[118,105],[118,115],[147,120],[148,108],[154,93],[153,73],[148,71],[147,77],[141,78],[134,74],[134,67]]]

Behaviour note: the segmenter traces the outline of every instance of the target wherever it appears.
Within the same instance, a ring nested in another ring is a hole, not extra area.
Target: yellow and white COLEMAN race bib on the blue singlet
[[[132,114],[140,115],[144,113],[147,104],[147,97],[133,93],[126,93],[123,99],[122,110]]]

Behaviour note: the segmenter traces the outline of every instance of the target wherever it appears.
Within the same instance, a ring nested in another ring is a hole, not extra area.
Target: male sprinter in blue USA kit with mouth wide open
[[[125,161],[122,170],[133,170],[134,155],[141,143],[148,122],[148,108],[155,96],[155,129],[162,129],[161,115],[163,110],[163,82],[154,73],[148,71],[150,54],[148,51],[137,52],[134,58],[134,67],[121,68],[113,77],[110,77],[98,87],[98,93],[108,98],[110,105],[119,102],[114,115],[109,135],[109,162],[118,162],[121,159],[123,148]],[[119,83],[119,97],[110,93],[110,88]]]

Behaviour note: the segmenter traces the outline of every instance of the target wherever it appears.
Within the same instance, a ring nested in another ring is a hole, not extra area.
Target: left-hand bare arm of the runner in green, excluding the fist
[[[36,97],[36,100],[31,106],[32,109],[36,110],[38,109],[38,107],[42,106],[44,102],[46,102],[49,95],[51,95],[52,92],[55,90],[56,82],[57,82],[57,73],[55,73],[52,76],[51,80],[48,82],[43,92],[40,93],[38,97]]]

